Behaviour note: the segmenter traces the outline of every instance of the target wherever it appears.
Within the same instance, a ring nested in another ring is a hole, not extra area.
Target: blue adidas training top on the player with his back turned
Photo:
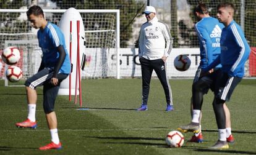
[[[216,18],[204,17],[195,24],[200,44],[200,67],[206,68],[220,55],[220,37],[224,25]],[[221,65],[216,66],[220,68]]]

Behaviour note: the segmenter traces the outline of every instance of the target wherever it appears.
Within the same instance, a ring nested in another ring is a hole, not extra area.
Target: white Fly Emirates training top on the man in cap
[[[166,48],[165,48],[166,45]],[[168,25],[154,17],[140,28],[139,57],[156,60],[168,57],[173,48],[173,38]]]

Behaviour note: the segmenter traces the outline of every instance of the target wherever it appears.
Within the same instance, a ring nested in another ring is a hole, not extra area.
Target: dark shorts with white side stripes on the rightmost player
[[[220,71],[216,81],[215,97],[229,101],[237,84],[242,80],[239,77],[229,77],[228,73]]]

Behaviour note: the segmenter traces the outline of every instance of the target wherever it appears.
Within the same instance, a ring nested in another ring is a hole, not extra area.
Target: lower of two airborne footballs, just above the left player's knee
[[[22,78],[22,70],[17,66],[9,66],[6,70],[6,78],[10,82],[18,82]]]

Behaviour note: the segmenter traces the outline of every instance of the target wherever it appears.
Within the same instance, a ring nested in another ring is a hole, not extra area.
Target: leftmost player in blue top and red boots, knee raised
[[[57,129],[57,117],[54,103],[61,81],[67,78],[71,71],[69,55],[66,50],[65,38],[57,25],[47,22],[43,10],[39,6],[32,6],[27,11],[27,17],[33,28],[38,30],[39,46],[43,51],[38,73],[25,82],[28,102],[28,117],[23,122],[17,122],[17,127],[35,129],[36,119],[36,87],[43,85],[43,109],[51,133],[51,143],[42,146],[40,150],[61,149]]]

